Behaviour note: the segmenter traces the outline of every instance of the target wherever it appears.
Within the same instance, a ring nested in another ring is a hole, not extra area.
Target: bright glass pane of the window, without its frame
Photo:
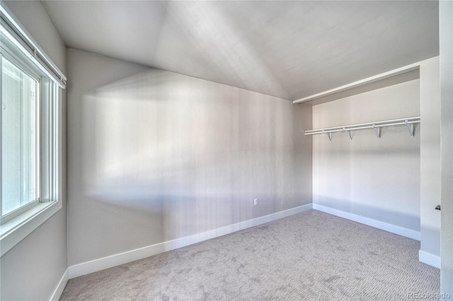
[[[2,58],[2,216],[38,199],[38,81]]]

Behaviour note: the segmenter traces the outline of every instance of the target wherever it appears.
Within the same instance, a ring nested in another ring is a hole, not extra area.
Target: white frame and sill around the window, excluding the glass
[[[11,50],[14,56],[18,57],[20,61],[24,61],[25,66],[32,66],[33,71],[41,76],[40,94],[42,100],[40,112],[40,200],[34,204],[35,206],[30,206],[31,208],[28,208],[28,210],[0,225],[0,256],[3,256],[62,208],[63,170],[60,163],[62,162],[61,117],[63,112],[61,102],[66,77],[42,51],[17,18],[13,16],[13,13],[1,2],[0,16],[2,42],[7,37],[15,46],[6,45],[4,47],[2,45],[2,47]]]

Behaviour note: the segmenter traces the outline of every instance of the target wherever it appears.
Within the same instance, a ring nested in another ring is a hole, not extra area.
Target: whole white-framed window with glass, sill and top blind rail
[[[60,208],[66,78],[0,3],[1,255]]]

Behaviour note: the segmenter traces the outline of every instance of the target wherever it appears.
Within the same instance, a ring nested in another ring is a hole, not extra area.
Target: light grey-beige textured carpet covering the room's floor
[[[418,249],[311,210],[71,279],[61,300],[408,300],[440,290]]]

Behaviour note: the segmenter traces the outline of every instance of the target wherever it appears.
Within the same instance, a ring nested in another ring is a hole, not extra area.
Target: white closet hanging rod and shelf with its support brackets
[[[305,131],[305,134],[306,135],[327,134],[328,140],[332,141],[332,133],[336,131],[345,131],[345,133],[348,134],[350,140],[352,140],[352,131],[355,131],[357,129],[374,129],[377,138],[381,138],[380,128],[382,128],[383,126],[395,126],[406,124],[408,126],[409,134],[411,134],[411,137],[413,137],[413,125],[418,123],[420,123],[420,116],[384,120],[381,122],[368,122],[366,124],[351,124],[348,126],[334,126],[326,127],[324,129],[311,129],[309,131]]]

